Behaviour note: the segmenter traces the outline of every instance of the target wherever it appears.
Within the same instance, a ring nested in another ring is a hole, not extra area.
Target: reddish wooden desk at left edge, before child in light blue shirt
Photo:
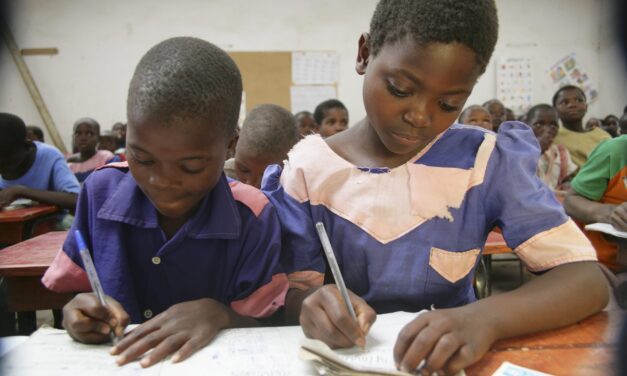
[[[0,244],[21,242],[30,235],[35,220],[60,211],[58,207],[46,204],[16,210],[0,210]],[[51,227],[47,226],[40,233],[52,230]]]

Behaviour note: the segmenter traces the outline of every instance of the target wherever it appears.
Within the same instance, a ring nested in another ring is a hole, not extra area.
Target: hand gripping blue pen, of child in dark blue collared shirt
[[[115,299],[106,296],[103,307],[94,293],[78,294],[63,307],[63,327],[75,340],[83,343],[105,343],[111,331],[124,334],[130,319]]]

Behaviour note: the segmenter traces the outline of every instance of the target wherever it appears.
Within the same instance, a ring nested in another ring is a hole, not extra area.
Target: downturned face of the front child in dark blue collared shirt
[[[128,165],[161,216],[186,220],[218,183],[230,143],[219,127],[206,119],[129,119]]]

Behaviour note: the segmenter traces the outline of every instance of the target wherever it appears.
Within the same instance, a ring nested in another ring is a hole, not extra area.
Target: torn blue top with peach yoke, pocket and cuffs
[[[291,287],[323,283],[319,221],[347,287],[378,313],[475,300],[473,271],[494,227],[532,271],[596,260],[537,178],[538,157],[533,133],[518,122],[498,135],[453,125],[393,169],[354,166],[319,136],[306,137],[262,183],[281,221]]]

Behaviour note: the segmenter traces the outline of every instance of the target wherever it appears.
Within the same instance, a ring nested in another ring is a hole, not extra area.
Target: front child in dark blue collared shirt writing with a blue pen
[[[72,227],[85,236],[108,306],[93,293],[63,309],[80,342],[103,343],[142,323],[111,351],[118,364],[181,361],[222,329],[256,325],[283,305],[287,279],[276,213],[257,189],[222,173],[242,81],[233,60],[195,38],[150,49],[131,80],[128,167],[95,171]],[[90,291],[74,236],[43,277],[54,291]]]

